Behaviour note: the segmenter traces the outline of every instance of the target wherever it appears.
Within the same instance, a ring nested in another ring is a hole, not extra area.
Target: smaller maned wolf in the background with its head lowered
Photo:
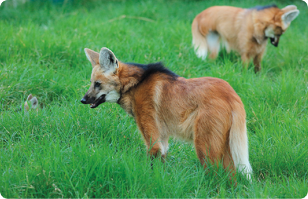
[[[217,57],[220,42],[227,52],[238,51],[244,65],[253,59],[255,72],[261,70],[261,58],[266,50],[268,38],[278,46],[280,36],[298,16],[295,5],[283,9],[276,5],[257,6],[251,9],[231,6],[207,8],[192,22],[192,44],[197,57]]]

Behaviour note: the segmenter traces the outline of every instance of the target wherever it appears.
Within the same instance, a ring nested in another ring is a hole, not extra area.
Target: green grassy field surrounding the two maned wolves
[[[9,0],[8,0],[9,1]],[[80,1],[0,5],[0,195],[4,198],[305,198],[308,194],[308,5],[268,44],[263,68],[243,70],[236,53],[197,59],[190,25],[211,5],[268,1]],[[218,77],[247,113],[249,183],[229,183],[199,163],[194,147],[170,140],[151,170],[135,122],[116,104],[79,100],[90,85],[84,48],[112,49],[123,62],[162,61],[186,78]],[[15,110],[28,94],[40,111]]]

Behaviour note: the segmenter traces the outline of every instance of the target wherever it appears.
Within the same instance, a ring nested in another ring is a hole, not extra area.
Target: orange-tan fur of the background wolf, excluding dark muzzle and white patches
[[[266,50],[267,38],[265,29],[271,27],[275,34],[282,34],[287,29],[281,16],[290,9],[266,8],[264,10],[243,9],[231,6],[213,6],[207,8],[194,18],[192,35],[195,49],[204,45],[209,48],[205,37],[209,31],[219,35],[221,40],[229,44],[229,49],[238,51],[247,66],[253,59],[255,72],[261,70],[261,58]],[[214,59],[218,49],[211,51],[209,57]],[[206,56],[206,55],[205,55]],[[204,58],[204,57],[203,57]]]

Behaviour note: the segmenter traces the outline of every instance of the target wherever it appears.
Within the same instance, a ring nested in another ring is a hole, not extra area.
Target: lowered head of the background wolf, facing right
[[[253,14],[254,37],[259,43],[264,40],[264,37],[270,38],[270,43],[277,47],[280,36],[298,14],[299,10],[295,5],[287,5],[281,10],[277,6],[257,10]]]

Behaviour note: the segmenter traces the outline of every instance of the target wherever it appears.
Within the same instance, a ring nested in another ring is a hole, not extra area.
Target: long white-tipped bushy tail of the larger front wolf
[[[235,168],[246,174],[251,180],[253,169],[249,163],[248,138],[246,129],[245,111],[242,106],[232,112],[232,126],[230,129],[230,150]]]

